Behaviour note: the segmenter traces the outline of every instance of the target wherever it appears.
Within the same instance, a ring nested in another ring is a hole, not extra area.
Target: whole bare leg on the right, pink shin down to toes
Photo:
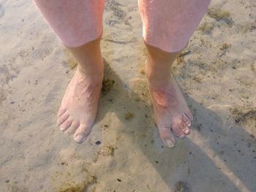
[[[192,124],[192,113],[171,74],[171,66],[209,3],[210,0],[138,0],[143,39],[148,49],[146,75],[154,119],[167,147],[175,145],[173,134],[183,139]]]

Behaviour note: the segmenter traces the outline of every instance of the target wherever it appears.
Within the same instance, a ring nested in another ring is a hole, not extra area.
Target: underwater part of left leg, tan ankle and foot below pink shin
[[[67,87],[58,113],[61,131],[74,134],[76,142],[89,136],[97,115],[102,88],[103,62],[99,39],[81,47],[69,47],[78,59],[78,69]]]

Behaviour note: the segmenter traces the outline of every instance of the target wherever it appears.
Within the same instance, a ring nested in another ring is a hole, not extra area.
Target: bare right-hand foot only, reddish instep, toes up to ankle
[[[155,81],[148,78],[148,88],[162,142],[167,147],[174,147],[176,140],[173,133],[180,139],[189,134],[192,113],[173,75],[168,80]]]

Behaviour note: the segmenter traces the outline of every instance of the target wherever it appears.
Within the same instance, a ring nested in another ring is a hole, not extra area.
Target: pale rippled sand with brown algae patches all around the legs
[[[0,4],[0,191],[256,191],[256,3],[213,0],[173,66],[195,117],[162,146],[137,1],[106,1],[105,88],[90,137],[56,112],[76,61],[30,1]],[[71,69],[72,68],[72,69]]]

